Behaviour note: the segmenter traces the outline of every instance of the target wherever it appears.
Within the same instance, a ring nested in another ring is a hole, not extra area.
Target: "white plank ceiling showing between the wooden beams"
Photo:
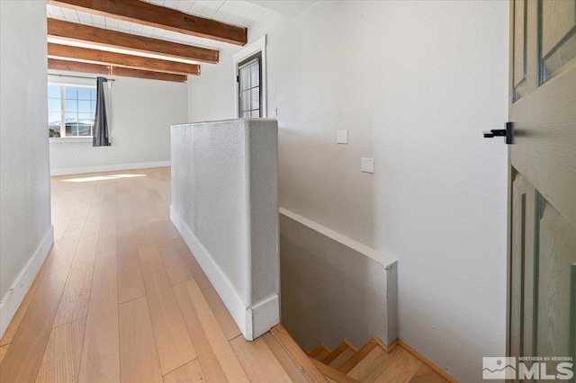
[[[166,8],[177,9],[178,11],[201,16],[207,19],[216,20],[219,22],[226,22],[242,27],[249,27],[253,22],[262,19],[270,10],[257,4],[251,4],[247,1],[238,0],[210,0],[210,1],[194,1],[194,0],[143,0],[147,3],[165,6]],[[126,33],[135,34],[138,36],[151,37],[159,40],[173,41],[181,44],[194,45],[196,47],[209,48],[209,49],[222,49],[229,44],[216,40],[202,39],[178,33],[174,31],[166,31],[159,28],[148,27],[146,25],[137,24],[134,22],[122,22],[120,20],[112,19],[110,17],[98,16],[91,13],[74,11],[67,8],[62,8],[54,5],[47,5],[48,17],[63,20],[66,22],[77,22],[84,25],[89,25],[97,28],[103,28],[111,31],[121,31]],[[178,58],[166,58],[157,55],[150,55],[141,52],[133,52],[126,49],[113,49],[101,47],[94,44],[67,41],[61,39],[49,38],[49,42],[58,44],[72,45],[83,48],[93,48],[114,51],[119,53],[128,53],[137,56],[151,57],[151,58],[164,58],[173,61],[183,61],[195,63],[195,61],[182,60]]]

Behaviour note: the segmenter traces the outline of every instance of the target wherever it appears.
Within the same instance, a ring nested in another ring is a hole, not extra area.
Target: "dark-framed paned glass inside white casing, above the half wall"
[[[262,117],[260,74],[262,53],[238,63],[238,117]]]

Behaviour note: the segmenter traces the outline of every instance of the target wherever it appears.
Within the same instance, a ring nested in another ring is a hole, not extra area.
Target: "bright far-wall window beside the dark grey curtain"
[[[49,137],[91,137],[96,89],[82,85],[48,85]]]

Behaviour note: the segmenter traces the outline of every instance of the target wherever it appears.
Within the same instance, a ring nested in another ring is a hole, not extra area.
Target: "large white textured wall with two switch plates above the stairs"
[[[507,147],[481,132],[507,120],[508,23],[506,2],[326,1],[249,29],[280,205],[397,257],[401,338],[461,381],[505,352]],[[191,81],[191,120],[235,116],[236,51]]]

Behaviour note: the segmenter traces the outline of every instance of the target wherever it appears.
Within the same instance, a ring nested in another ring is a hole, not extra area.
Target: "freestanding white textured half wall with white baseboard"
[[[170,218],[248,340],[280,320],[277,147],[272,119],[172,127]]]

